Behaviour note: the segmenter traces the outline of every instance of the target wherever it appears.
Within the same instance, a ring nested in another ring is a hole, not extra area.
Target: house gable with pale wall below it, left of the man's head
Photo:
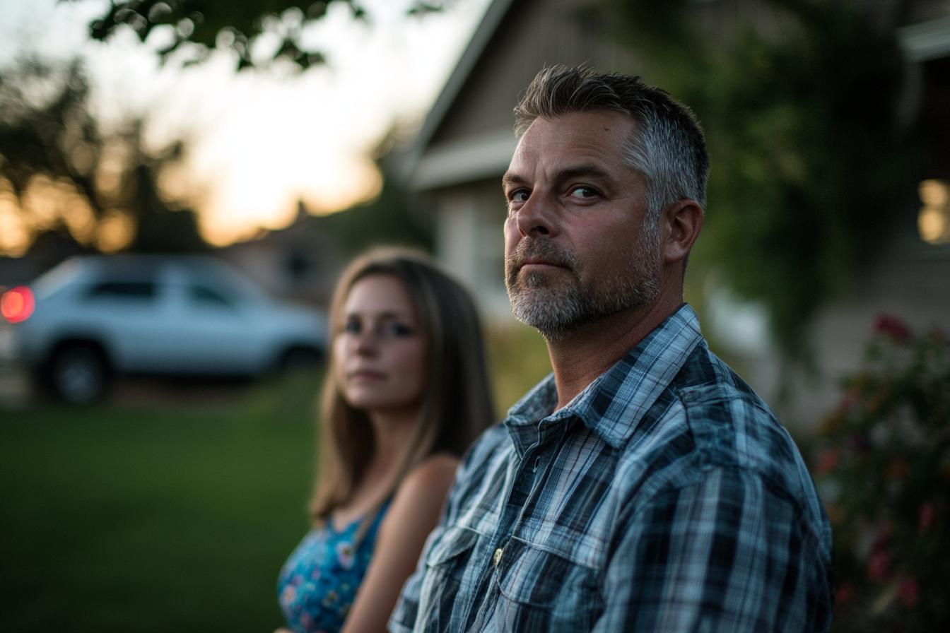
[[[622,70],[630,54],[598,36],[589,0],[494,0],[404,162],[409,189],[433,200],[436,252],[493,319],[504,291],[501,177],[518,140],[512,108],[544,65]]]

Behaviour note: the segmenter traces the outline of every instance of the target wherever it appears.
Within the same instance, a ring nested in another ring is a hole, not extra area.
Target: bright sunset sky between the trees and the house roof
[[[225,244],[289,223],[303,198],[319,213],[371,197],[380,184],[368,153],[394,122],[418,125],[485,11],[487,0],[458,0],[443,14],[413,18],[397,0],[365,0],[371,25],[332,6],[305,31],[330,65],[303,74],[286,67],[237,73],[229,57],[160,68],[130,31],[90,42],[103,0],[0,0],[0,66],[18,56],[85,59],[94,109],[107,124],[145,115],[155,146],[188,141],[184,169],[167,189],[199,211],[202,233]],[[266,43],[263,44],[266,46]]]

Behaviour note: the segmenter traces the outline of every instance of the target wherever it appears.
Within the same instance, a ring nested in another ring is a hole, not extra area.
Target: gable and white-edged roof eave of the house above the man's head
[[[597,0],[492,0],[422,129],[400,160],[409,189],[504,173],[518,140],[511,109],[548,65],[626,66],[591,16]]]

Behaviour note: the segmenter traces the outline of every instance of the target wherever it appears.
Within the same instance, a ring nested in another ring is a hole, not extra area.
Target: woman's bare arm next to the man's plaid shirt
[[[384,633],[392,608],[435,528],[459,460],[429,457],[409,473],[376,535],[370,568],[341,633]]]

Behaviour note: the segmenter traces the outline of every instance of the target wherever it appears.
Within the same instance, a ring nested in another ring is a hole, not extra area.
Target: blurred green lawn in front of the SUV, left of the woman
[[[0,630],[273,631],[308,527],[316,385],[0,410]]]

